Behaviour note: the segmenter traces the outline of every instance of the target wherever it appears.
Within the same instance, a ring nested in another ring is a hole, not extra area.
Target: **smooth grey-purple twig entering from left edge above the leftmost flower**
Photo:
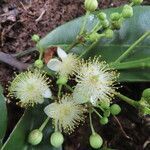
[[[0,62],[6,63],[12,67],[17,68],[18,70],[25,70],[29,67],[29,64],[22,63],[14,57],[12,57],[10,54],[6,54],[3,52],[0,52]]]

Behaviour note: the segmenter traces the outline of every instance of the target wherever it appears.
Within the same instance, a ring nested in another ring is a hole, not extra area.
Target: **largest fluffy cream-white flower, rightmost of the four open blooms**
[[[105,62],[99,62],[99,58],[82,62],[73,97],[78,103],[90,101],[93,105],[97,105],[98,100],[111,100],[117,77]]]

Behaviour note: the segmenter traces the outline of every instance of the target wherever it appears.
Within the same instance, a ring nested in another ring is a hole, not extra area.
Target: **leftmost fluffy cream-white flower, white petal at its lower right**
[[[22,107],[43,103],[44,98],[51,98],[46,76],[39,70],[26,71],[16,75],[8,88],[9,95],[20,99]]]

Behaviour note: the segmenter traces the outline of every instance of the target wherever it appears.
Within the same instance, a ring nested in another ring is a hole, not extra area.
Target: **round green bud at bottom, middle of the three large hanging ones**
[[[61,132],[54,132],[50,137],[50,142],[54,147],[58,148],[63,144],[64,137]]]

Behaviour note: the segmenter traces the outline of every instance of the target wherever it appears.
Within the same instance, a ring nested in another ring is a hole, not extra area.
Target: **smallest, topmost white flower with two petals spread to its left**
[[[60,76],[73,75],[78,68],[78,59],[73,54],[66,54],[61,48],[57,48],[57,54],[60,57],[61,61],[57,58],[51,59],[47,63],[47,67],[57,73]]]

